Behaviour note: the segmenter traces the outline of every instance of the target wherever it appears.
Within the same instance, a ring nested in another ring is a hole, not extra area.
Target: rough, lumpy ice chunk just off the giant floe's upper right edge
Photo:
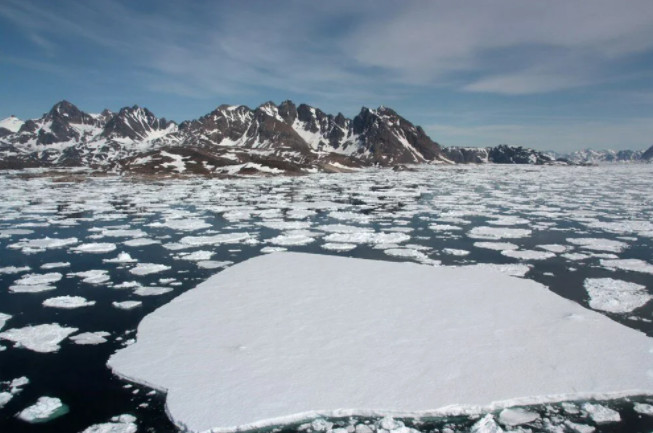
[[[612,278],[587,278],[584,286],[590,307],[609,313],[629,313],[653,298],[641,284]]]

